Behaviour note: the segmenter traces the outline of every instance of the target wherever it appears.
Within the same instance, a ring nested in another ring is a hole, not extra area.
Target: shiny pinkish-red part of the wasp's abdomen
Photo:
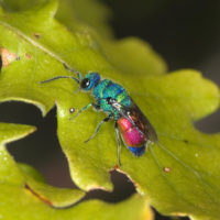
[[[120,118],[117,123],[119,124],[123,142],[127,146],[141,147],[146,143],[144,134],[127,118]]]

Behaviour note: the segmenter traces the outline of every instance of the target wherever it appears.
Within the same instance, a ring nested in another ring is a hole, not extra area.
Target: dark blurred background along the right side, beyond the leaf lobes
[[[106,0],[117,38],[139,36],[160,53],[173,72],[194,68],[220,86],[220,1]],[[220,131],[220,110],[196,122]]]

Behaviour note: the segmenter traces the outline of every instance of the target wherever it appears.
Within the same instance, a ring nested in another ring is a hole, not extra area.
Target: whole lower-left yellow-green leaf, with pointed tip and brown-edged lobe
[[[0,141],[0,200],[2,201],[0,217],[2,219],[89,219],[91,216],[99,216],[99,219],[110,220],[122,219],[129,210],[131,211],[128,219],[142,219],[143,217],[152,219],[147,202],[139,196],[118,205],[94,200],[85,201],[73,208],[61,209],[78,201],[84,193],[78,189],[56,188],[44,184],[32,167],[26,165],[18,167],[6,147],[1,145],[33,131],[34,128],[29,125],[0,123],[0,136],[3,136]]]

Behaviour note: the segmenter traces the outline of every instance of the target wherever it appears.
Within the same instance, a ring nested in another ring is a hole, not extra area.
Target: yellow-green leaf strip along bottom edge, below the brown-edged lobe
[[[3,219],[105,219],[119,220],[127,216],[127,219],[146,219],[148,212],[142,212],[143,200],[131,198],[118,205],[103,204],[98,200],[85,201],[68,209],[54,209],[47,205],[33,199],[33,196],[15,186],[0,186],[1,217]],[[11,211],[13,210],[13,212]],[[135,212],[133,211],[135,210]]]

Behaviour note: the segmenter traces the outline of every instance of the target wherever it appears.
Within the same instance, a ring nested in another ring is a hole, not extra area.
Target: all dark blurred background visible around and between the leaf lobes
[[[220,1],[218,0],[106,0],[112,9],[116,37],[139,36],[147,41],[168,64],[169,70],[195,68],[220,86]],[[15,160],[34,166],[46,180],[59,187],[75,187],[56,135],[56,110],[46,118],[31,105],[0,105],[0,121],[26,123],[37,132],[9,144]],[[220,111],[196,122],[202,132],[220,131]],[[111,174],[113,193],[92,191],[87,198],[117,202],[135,191],[122,174]],[[157,220],[170,218],[157,215]]]

